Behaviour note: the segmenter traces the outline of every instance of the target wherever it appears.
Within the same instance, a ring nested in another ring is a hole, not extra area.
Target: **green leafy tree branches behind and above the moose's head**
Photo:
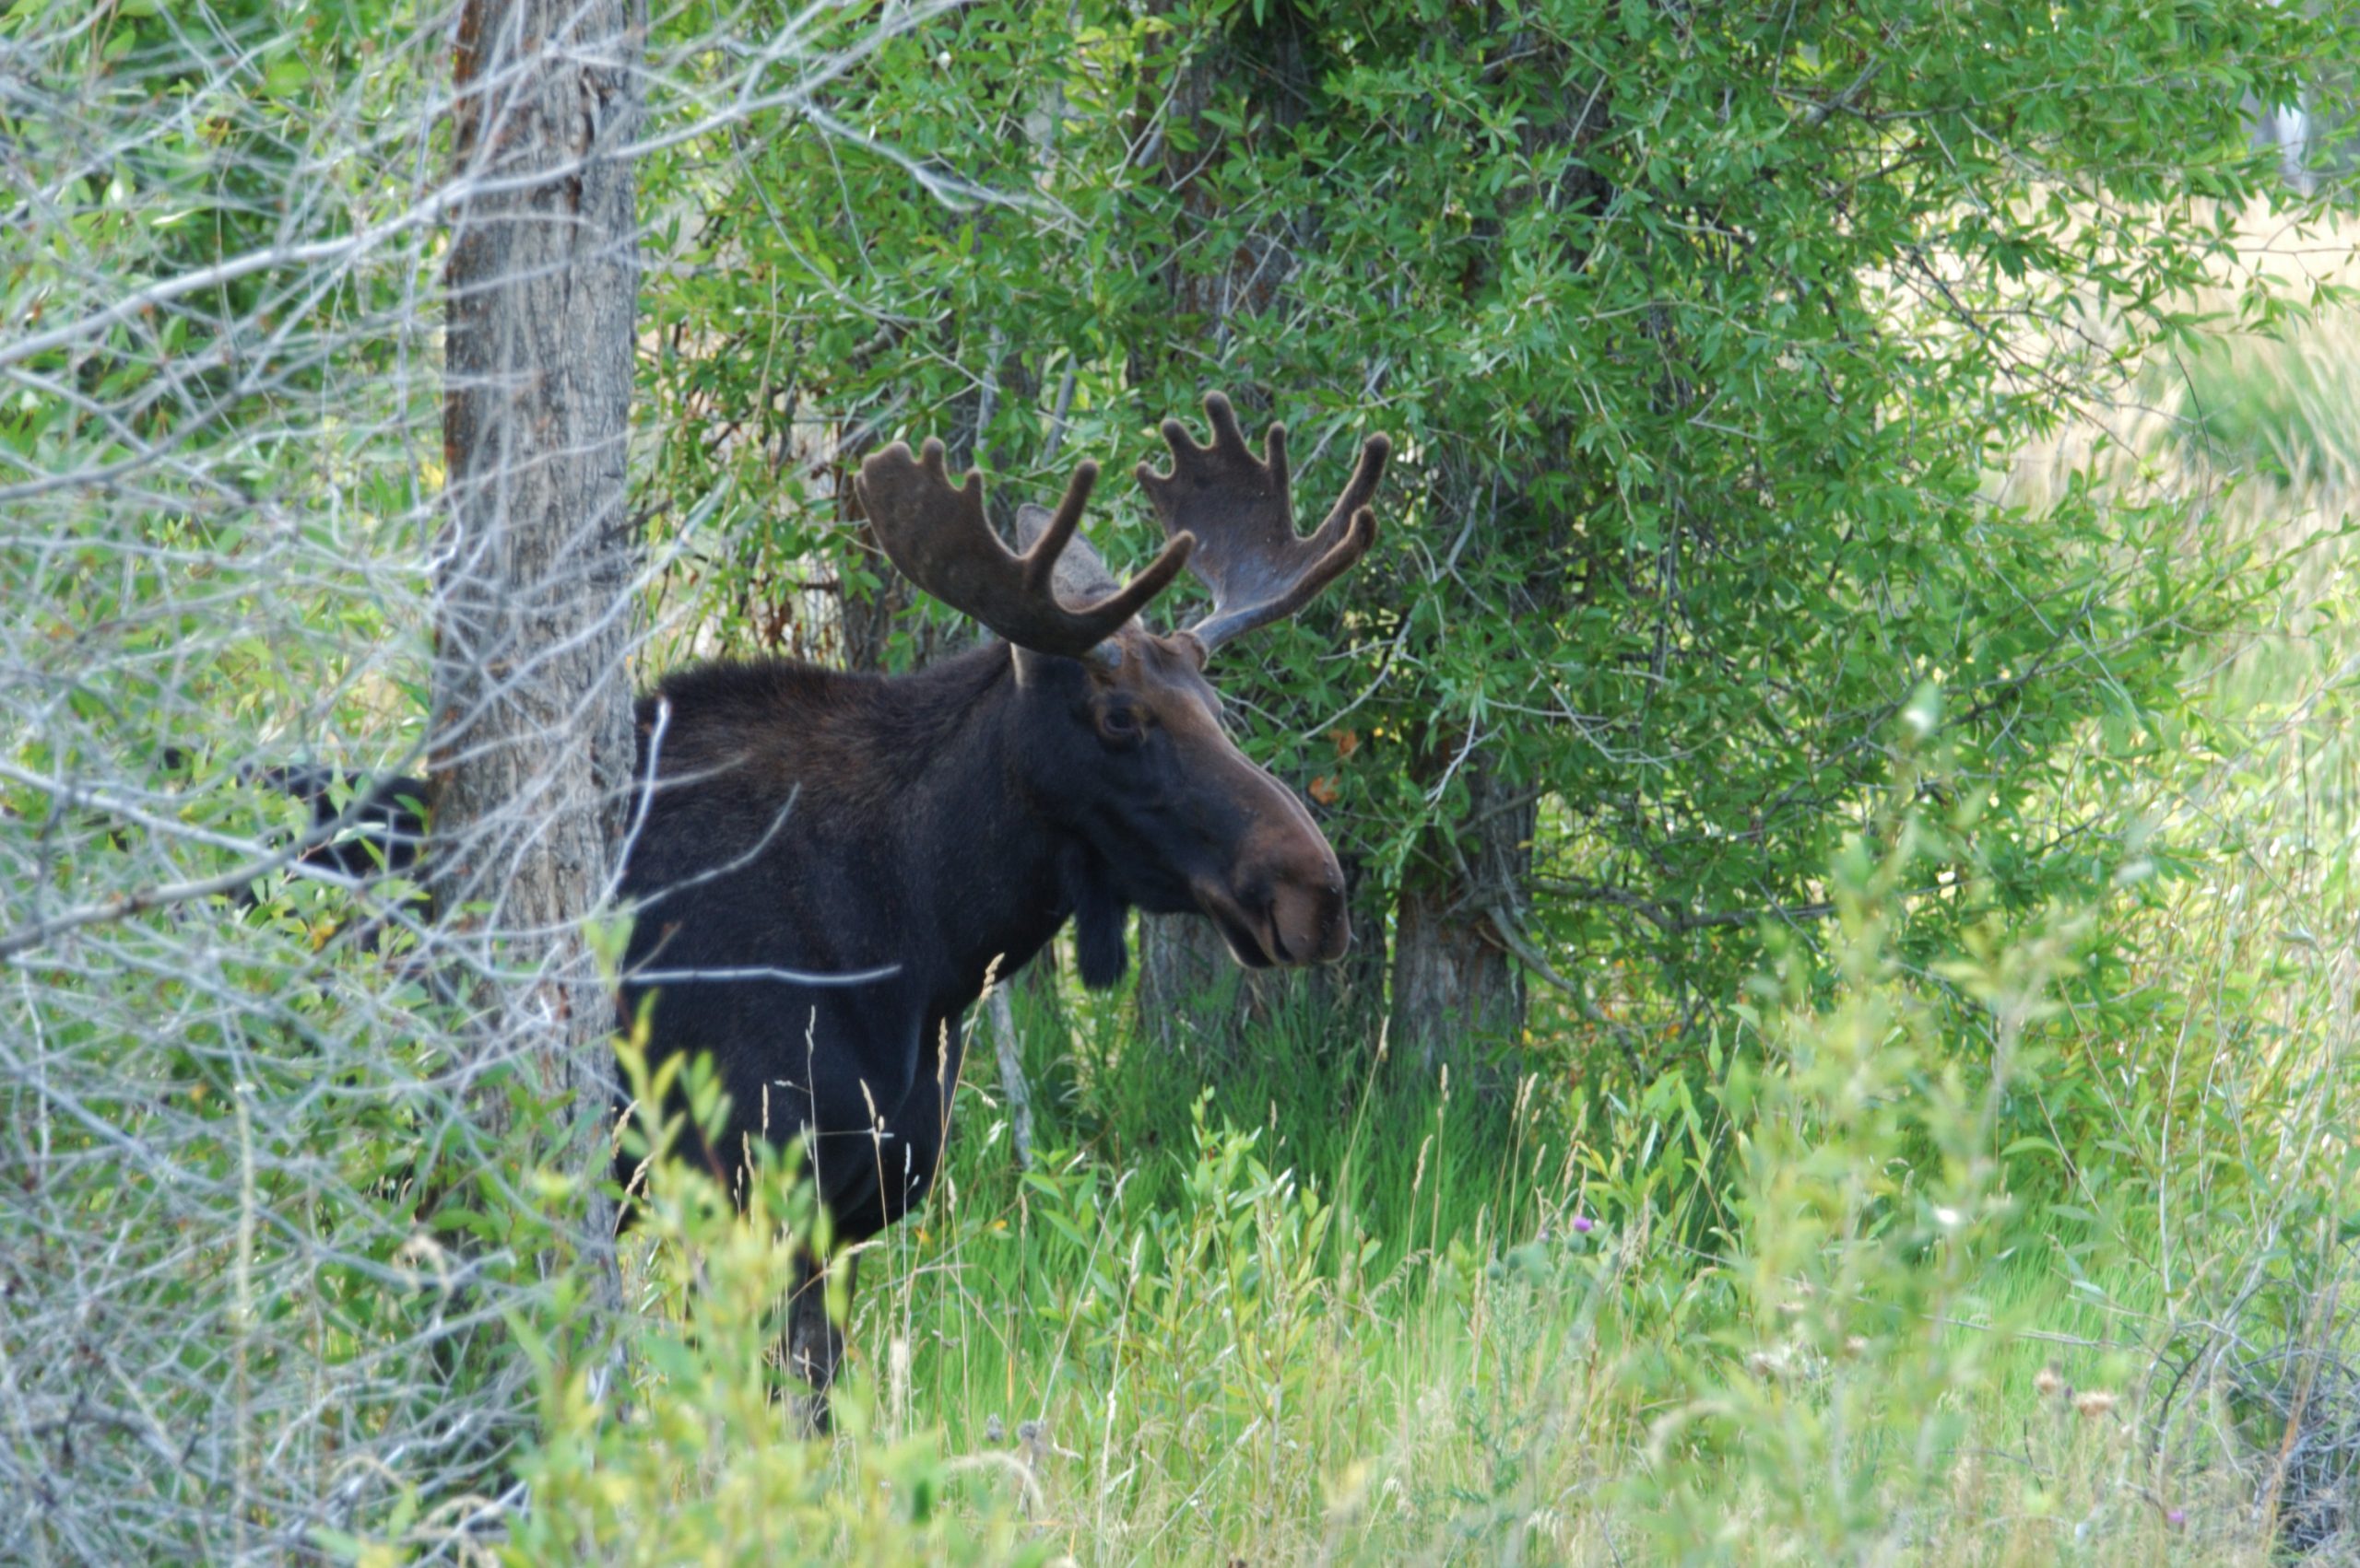
[[[1517,901],[1600,976],[1546,1033],[1645,1082],[1702,1061],[1761,927],[1820,917],[1928,677],[1994,898],[2129,858],[2048,811],[2058,773],[2093,717],[2119,745],[2079,764],[2185,726],[2181,660],[2254,580],[2174,509],[1982,474],[2183,325],[2273,177],[2240,94],[2346,33],[2259,0],[963,7],[847,80],[864,139],[781,116],[658,165],[694,198],[654,219],[642,483],[732,625],[784,634],[746,606],[876,575],[826,462],[769,479],[798,420],[807,453],[949,431],[1041,493],[1230,384],[1293,422],[1305,509],[1392,429],[1378,556],[1225,674],[1246,743],[1378,903],[1480,828],[1454,757],[1539,795]],[[2067,311],[2119,323],[2110,361],[2023,330]]]

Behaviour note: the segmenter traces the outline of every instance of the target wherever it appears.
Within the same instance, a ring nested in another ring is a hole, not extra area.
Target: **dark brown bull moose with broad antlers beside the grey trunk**
[[[800,1141],[840,1247],[927,1193],[965,1009],[1067,920],[1095,988],[1123,976],[1130,908],[1201,913],[1256,969],[1345,953],[1336,851],[1230,740],[1206,665],[1366,554],[1390,443],[1362,443],[1305,538],[1284,424],[1256,457],[1225,396],[1204,408],[1211,446],[1166,420],[1171,472],[1138,467],[1168,538],[1128,585],[1076,538],[1095,462],[1055,512],[1017,509],[1017,554],[977,474],[953,486],[939,441],[894,443],[854,479],[878,542],[996,639],[902,677],[708,663],[640,703],[623,1021],[644,1004],[651,1066],[710,1054],[727,1108],[691,1158],[734,1184],[755,1141]],[[1140,611],[1182,568],[1211,613],[1147,630]],[[618,1158],[625,1191],[640,1174]],[[824,1271],[805,1259],[786,1320],[814,1427],[843,1356]]]

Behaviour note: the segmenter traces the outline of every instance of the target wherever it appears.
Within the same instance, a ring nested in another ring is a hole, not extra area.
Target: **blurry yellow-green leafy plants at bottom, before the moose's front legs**
[[[566,1353],[585,1309],[566,1292],[512,1323],[540,1372],[540,1441],[517,1467],[533,1507],[500,1561],[1048,1561],[1045,1544],[1017,1540],[1020,1464],[946,1460],[932,1434],[897,1438],[857,1386],[838,1401],[833,1448],[795,1438],[767,1365],[809,1207],[774,1170],[741,1214],[708,1177],[663,1162],[637,1212],[654,1311],[597,1346],[607,1358],[592,1365]],[[614,1382],[616,1365],[632,1382]],[[413,1542],[430,1547],[434,1533]]]

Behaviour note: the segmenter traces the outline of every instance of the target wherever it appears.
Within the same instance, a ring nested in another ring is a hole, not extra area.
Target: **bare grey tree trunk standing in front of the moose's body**
[[[434,552],[434,846],[470,1070],[510,1137],[510,1068],[557,1103],[529,1153],[595,1184],[614,1000],[583,920],[614,887],[632,780],[637,540],[625,509],[640,259],[640,0],[467,0],[458,28],[444,462]],[[597,1188],[581,1247],[621,1304]]]

